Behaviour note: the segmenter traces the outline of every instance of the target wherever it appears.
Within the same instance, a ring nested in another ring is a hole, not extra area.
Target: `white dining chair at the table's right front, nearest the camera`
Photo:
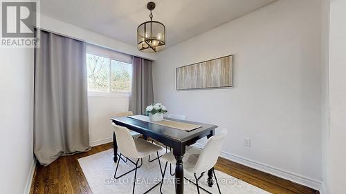
[[[203,191],[206,191],[206,189],[199,186],[198,184],[198,181],[201,179],[201,177],[203,177],[206,171],[209,171],[210,169],[212,169],[212,173],[217,182],[214,166],[217,163],[217,159],[219,158],[219,155],[221,153],[222,144],[224,143],[226,134],[227,134],[227,130],[224,129],[222,130],[221,134],[210,137],[208,139],[208,142],[206,143],[206,146],[204,146],[203,149],[199,149],[194,146],[189,146],[186,149],[186,153],[183,157],[184,170],[190,173],[194,173],[194,179],[196,182],[194,183],[191,180],[187,179],[186,177],[184,178],[197,186],[197,193],[199,193],[199,188],[201,188]],[[164,180],[167,164],[168,163],[175,164],[176,159],[172,152],[166,153],[165,155],[163,155],[162,159],[166,161],[165,168],[163,170],[163,180]],[[197,174],[199,173],[201,173],[201,175],[197,178]],[[162,193],[162,185],[163,185],[163,182],[161,182],[161,186],[160,186],[161,193]],[[221,194],[218,182],[217,182],[217,189],[219,190],[219,193]],[[206,192],[210,193],[209,191],[206,191]]]

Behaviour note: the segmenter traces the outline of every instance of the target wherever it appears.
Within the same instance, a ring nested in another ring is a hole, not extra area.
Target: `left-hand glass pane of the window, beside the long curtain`
[[[109,58],[86,54],[88,90],[107,92],[109,86]]]

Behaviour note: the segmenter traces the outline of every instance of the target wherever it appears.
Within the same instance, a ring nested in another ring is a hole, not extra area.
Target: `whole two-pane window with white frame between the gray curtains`
[[[95,51],[95,47],[87,47],[89,95],[129,95],[132,80],[131,60],[129,55],[102,48]]]

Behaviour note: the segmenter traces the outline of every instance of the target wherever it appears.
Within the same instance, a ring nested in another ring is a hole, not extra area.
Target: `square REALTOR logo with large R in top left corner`
[[[37,47],[38,4],[33,1],[1,2],[1,46]]]

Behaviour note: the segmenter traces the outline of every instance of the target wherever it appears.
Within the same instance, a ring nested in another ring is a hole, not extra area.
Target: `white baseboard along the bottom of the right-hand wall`
[[[197,143],[194,145],[199,147],[199,148],[204,147],[204,145],[201,143]],[[259,171],[263,171],[265,173],[269,173],[271,175],[281,177],[285,180],[290,180],[292,182],[302,184],[304,186],[309,186],[310,188],[316,189],[318,191],[322,190],[322,182],[320,182],[319,180],[315,180],[313,178],[310,178],[310,177],[298,175],[297,173],[285,171],[283,169],[276,168],[274,166],[263,164],[261,162],[256,162],[256,161],[253,161],[251,159],[247,159],[247,158],[244,158],[244,157],[241,157],[238,155],[233,155],[233,154],[225,152],[225,151],[221,151],[221,157],[224,157],[224,158],[229,159],[233,162],[237,162],[239,164],[243,164],[243,165],[251,167],[251,168],[255,168]]]

